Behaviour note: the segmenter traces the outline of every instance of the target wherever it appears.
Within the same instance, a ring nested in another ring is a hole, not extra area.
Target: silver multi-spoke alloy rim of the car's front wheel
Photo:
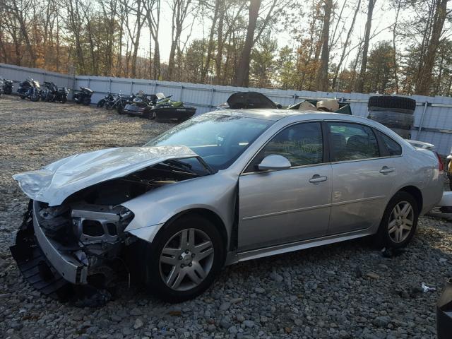
[[[214,249],[210,237],[196,228],[174,234],[160,254],[160,277],[167,287],[186,291],[206,279],[213,266]]]

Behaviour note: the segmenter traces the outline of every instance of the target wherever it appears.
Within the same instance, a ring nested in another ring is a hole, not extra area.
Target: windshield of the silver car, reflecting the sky
[[[145,146],[185,145],[212,169],[225,169],[274,121],[203,114],[179,124]]]

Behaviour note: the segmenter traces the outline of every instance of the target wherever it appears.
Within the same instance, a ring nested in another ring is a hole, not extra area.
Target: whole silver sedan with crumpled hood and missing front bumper
[[[405,246],[441,199],[441,170],[432,151],[368,119],[212,112],[143,147],[16,174],[31,201],[11,251],[48,295],[107,288],[125,270],[178,302],[238,261],[369,235]]]

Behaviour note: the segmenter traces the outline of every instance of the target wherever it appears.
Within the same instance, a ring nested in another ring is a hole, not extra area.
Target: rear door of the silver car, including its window
[[[396,177],[394,160],[370,126],[326,122],[333,170],[328,234],[377,225]]]

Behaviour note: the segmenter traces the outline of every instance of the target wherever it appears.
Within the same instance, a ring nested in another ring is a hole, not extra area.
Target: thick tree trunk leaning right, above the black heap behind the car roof
[[[249,84],[249,61],[251,59],[251,49],[254,44],[254,31],[256,30],[259,8],[261,8],[261,0],[251,0],[245,44],[240,57],[239,66],[235,73],[235,85],[239,87],[248,87]]]

